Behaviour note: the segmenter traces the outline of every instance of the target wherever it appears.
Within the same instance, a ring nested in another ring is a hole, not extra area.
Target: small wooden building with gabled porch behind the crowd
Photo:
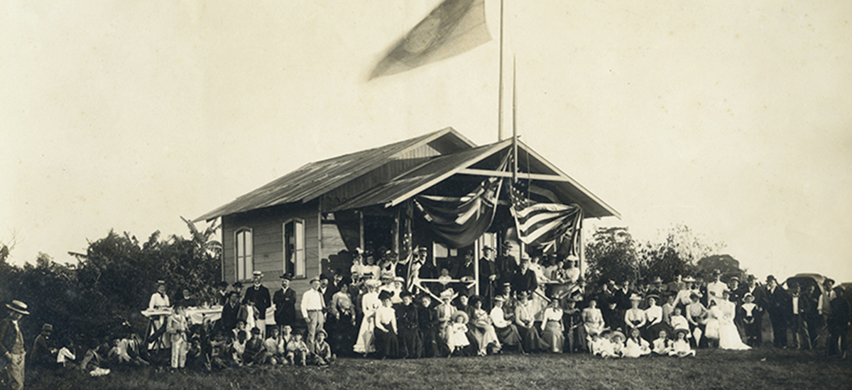
[[[292,288],[301,293],[308,289],[308,280],[320,273],[348,272],[349,254],[355,248],[399,249],[400,210],[412,197],[458,197],[487,177],[511,177],[510,172],[498,170],[511,150],[511,140],[476,146],[454,129],[441,129],[308,163],[196,221],[222,218],[223,280],[249,280],[258,270],[274,291],[279,288],[279,275],[289,273]],[[578,204],[584,218],[619,216],[521,142],[517,155],[518,178],[528,182],[530,198]],[[508,215],[507,205],[500,204],[495,221],[507,221]],[[414,245],[428,247],[435,258],[457,253],[458,248],[440,242],[421,223],[413,229]],[[509,225],[495,223],[470,246],[475,250],[483,244],[496,247],[508,238],[500,236],[507,234]]]

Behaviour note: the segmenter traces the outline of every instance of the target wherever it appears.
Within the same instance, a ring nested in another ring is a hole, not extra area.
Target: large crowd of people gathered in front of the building
[[[198,305],[187,290],[170,302],[160,281],[149,309],[168,314],[153,317],[144,338],[126,326],[78,348],[70,339],[55,343],[52,325],[44,324],[27,360],[37,370],[64,367],[100,376],[121,366],[158,364],[158,353],[169,353],[170,364],[163,359],[164,364],[177,370],[327,366],[337,355],[451,358],[509,351],[688,357],[700,348],[760,346],[764,316],[772,324],[774,347],[809,349],[823,335],[826,354],[845,357],[849,296],[831,279],[822,286],[784,288],[772,276],[758,284],[748,275],[740,284],[738,275],[713,272],[706,281],[676,275],[667,283],[652,277],[589,285],[576,258],[521,254],[515,259],[511,244],[503,247],[499,256],[495,249],[483,249],[478,290],[471,253],[437,263],[423,248],[405,262],[389,251],[358,250],[348,272],[320,275],[298,293],[288,275],[281,275],[280,288],[270,293],[262,272],[254,272],[248,287],[219,284],[216,320],[187,312]],[[8,381],[14,385],[20,378],[22,385],[18,321],[27,314],[26,304],[14,301],[7,307],[11,314],[0,322],[0,354]],[[267,318],[270,308],[273,318]]]

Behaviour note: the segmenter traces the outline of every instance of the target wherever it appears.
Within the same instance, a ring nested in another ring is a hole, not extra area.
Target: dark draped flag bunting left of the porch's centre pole
[[[504,170],[507,162],[508,154],[498,170]],[[412,204],[449,247],[461,248],[473,244],[491,227],[502,183],[498,177],[489,177],[461,198],[418,195]]]

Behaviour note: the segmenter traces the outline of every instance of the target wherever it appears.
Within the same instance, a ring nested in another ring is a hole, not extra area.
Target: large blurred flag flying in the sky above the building
[[[490,40],[484,0],[444,0],[394,44],[370,79],[444,60]]]

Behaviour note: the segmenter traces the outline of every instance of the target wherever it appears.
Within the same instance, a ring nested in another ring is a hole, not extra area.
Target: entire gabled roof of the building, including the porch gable
[[[488,169],[472,169],[487,158],[510,149],[511,139],[498,141],[485,146],[475,146],[463,135],[452,128],[441,129],[427,135],[396,142],[387,146],[354,152],[337,158],[329,158],[308,163],[290,174],[249,192],[229,204],[200,216],[195,221],[210,221],[222,215],[242,213],[253,209],[262,209],[279,204],[296,202],[306,203],[318,198],[337,187],[364,177],[377,170],[394,158],[403,158],[406,152],[426,144],[435,145],[435,141],[444,142],[440,155],[426,158],[400,175],[386,177],[383,182],[366,188],[341,204],[333,205],[322,211],[340,211],[360,209],[367,206],[384,207],[400,204],[431,186],[445,181],[452,175],[492,175],[511,177],[510,172],[494,172]],[[519,180],[535,183],[540,191],[550,192],[564,204],[578,204],[584,209],[585,217],[602,218],[615,216],[621,218],[618,211],[590,192],[578,181],[566,175],[556,165],[547,161],[532,148],[518,141],[518,160],[528,172],[519,172]],[[324,203],[325,204],[325,203]]]

